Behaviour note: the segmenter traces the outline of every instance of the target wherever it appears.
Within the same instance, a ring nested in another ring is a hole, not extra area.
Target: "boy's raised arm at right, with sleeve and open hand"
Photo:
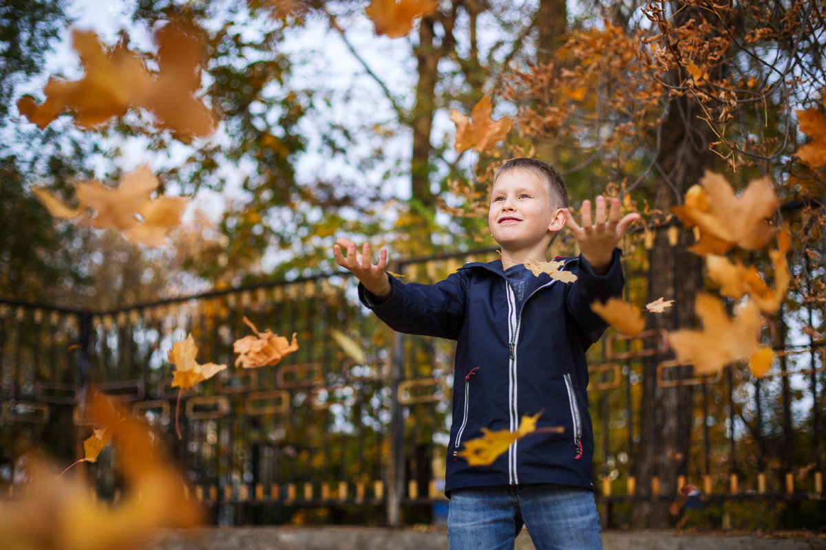
[[[616,247],[639,214],[632,212],[619,219],[619,199],[611,200],[606,212],[605,199],[596,197],[596,212],[591,216],[591,202],[582,203],[582,225],[571,212],[563,210],[565,221],[577,238],[580,266],[577,281],[568,289],[566,305],[582,331],[596,341],[607,326],[601,317],[591,311],[595,300],[605,301],[622,293],[624,278],[619,265],[620,251]]]

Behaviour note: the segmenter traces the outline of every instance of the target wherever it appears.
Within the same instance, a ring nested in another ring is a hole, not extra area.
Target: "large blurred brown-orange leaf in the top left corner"
[[[23,96],[17,109],[40,129],[64,112],[74,115],[79,127],[89,129],[125,115],[134,106],[149,110],[160,127],[172,129],[182,141],[207,137],[216,120],[194,96],[201,87],[199,34],[176,23],[156,31],[159,71],[152,72],[142,54],[122,44],[107,48],[92,31],[74,31],[73,47],[86,69],[83,78],[50,78],[41,105],[32,96]]]

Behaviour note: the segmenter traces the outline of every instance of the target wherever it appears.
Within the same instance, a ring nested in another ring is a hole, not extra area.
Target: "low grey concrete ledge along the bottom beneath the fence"
[[[673,531],[602,534],[605,550],[826,550],[826,537],[766,538],[746,535],[679,535]],[[167,531],[151,550],[445,550],[444,529],[363,527],[235,527]],[[534,550],[522,530],[515,550]]]

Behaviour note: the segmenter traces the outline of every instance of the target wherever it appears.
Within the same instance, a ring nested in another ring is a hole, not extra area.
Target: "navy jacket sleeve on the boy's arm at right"
[[[619,260],[621,254],[619,248],[614,249],[614,256],[611,257],[605,275],[596,275],[580,255],[576,269],[577,280],[567,286],[565,308],[590,343],[599,340],[602,332],[608,328],[608,323],[591,310],[591,303],[595,300],[605,302],[609,298],[622,295],[625,280],[622,262]]]

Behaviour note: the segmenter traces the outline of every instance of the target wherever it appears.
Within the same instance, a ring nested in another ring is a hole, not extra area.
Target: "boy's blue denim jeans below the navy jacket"
[[[514,548],[522,525],[537,550],[601,550],[594,493],[554,484],[463,487],[450,492],[450,550]]]

